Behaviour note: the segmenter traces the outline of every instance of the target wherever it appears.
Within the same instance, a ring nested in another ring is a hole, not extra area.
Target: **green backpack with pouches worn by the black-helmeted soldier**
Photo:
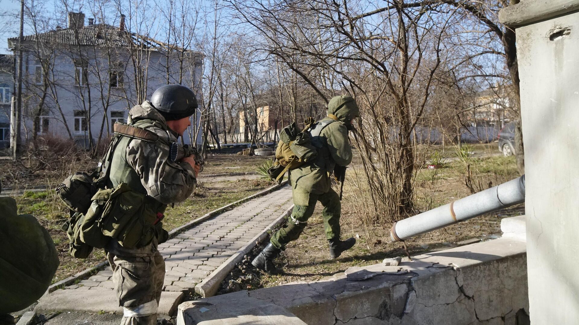
[[[153,237],[157,243],[168,239],[168,232],[160,222],[163,214],[155,212],[162,204],[147,200],[146,195],[133,191],[125,183],[114,189],[105,188],[113,152],[123,136],[144,141],[156,141],[158,136],[127,124],[115,124],[115,134],[96,171],[77,172],[56,189],[71,210],[62,228],[68,235],[69,253],[76,258],[87,258],[93,248],[105,248],[111,239],[125,248],[148,245]],[[102,168],[105,168],[104,175]],[[102,176],[98,178],[99,175]]]

